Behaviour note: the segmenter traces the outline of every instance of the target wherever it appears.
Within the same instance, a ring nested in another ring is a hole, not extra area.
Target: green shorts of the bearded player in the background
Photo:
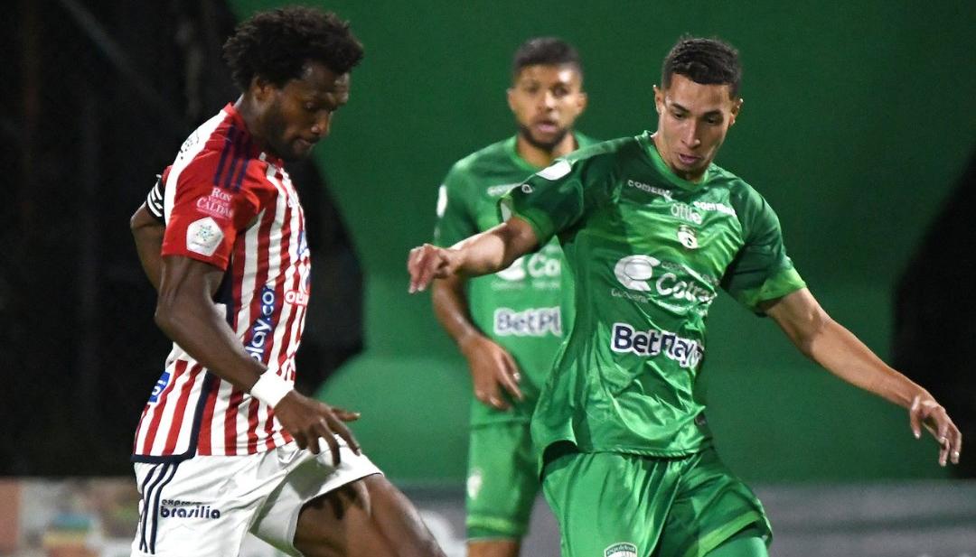
[[[471,428],[468,449],[468,540],[520,539],[539,494],[539,455],[529,424]]]

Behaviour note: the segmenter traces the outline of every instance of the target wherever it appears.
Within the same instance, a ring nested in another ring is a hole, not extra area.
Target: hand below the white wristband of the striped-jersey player
[[[307,448],[315,455],[319,454],[318,439],[324,439],[332,452],[332,463],[335,466],[340,461],[336,435],[346,440],[353,453],[359,454],[359,443],[343,423],[358,419],[358,412],[329,406],[293,390],[274,407],[274,416],[291,433],[300,448]]]

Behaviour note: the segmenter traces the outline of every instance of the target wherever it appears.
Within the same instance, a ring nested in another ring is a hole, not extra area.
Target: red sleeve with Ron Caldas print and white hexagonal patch
[[[250,160],[239,186],[215,184],[216,157],[203,155],[191,161],[175,183],[166,183],[166,233],[163,256],[183,256],[226,269],[237,235],[263,210],[264,162]],[[172,205],[169,203],[172,195]]]

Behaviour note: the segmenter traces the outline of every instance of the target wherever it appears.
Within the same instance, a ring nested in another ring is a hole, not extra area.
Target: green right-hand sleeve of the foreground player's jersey
[[[736,212],[743,224],[745,244],[726,269],[721,286],[761,315],[759,305],[763,301],[784,297],[806,284],[787,256],[780,219],[766,200],[750,188]]]

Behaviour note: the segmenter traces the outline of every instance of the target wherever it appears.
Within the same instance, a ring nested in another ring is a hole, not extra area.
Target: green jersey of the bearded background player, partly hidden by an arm
[[[593,143],[575,134],[577,144]],[[451,168],[437,199],[434,244],[451,246],[500,224],[498,201],[512,187],[540,169],[515,150],[511,137],[476,151]],[[528,421],[539,389],[552,369],[552,358],[570,316],[563,307],[562,253],[557,241],[515,260],[508,269],[468,281],[468,308],[474,324],[515,359],[525,400],[500,412],[471,404],[471,423]]]

